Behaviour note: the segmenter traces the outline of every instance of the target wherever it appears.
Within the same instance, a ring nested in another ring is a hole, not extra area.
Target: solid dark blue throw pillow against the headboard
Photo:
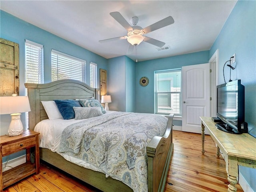
[[[73,119],[75,118],[75,112],[73,107],[81,107],[79,101],[68,99],[68,100],[54,100],[60,114],[64,119]]]

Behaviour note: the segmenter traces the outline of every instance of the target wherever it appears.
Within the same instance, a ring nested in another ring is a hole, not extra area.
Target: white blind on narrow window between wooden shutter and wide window
[[[44,83],[42,45],[25,41],[25,65],[27,83]]]

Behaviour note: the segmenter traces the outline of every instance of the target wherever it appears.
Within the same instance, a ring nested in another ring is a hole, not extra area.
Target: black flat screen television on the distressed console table
[[[244,122],[244,86],[241,80],[217,86],[217,115],[222,123],[215,126],[223,131],[240,134],[248,132]]]

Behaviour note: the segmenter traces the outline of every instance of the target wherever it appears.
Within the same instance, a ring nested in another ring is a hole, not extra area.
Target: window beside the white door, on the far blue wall
[[[181,116],[181,69],[155,71],[155,113]]]

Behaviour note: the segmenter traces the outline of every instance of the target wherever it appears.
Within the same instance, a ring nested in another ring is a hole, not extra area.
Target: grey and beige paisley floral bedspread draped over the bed
[[[114,112],[64,129],[59,152],[99,167],[106,175],[148,191],[146,146],[162,136],[168,119],[156,114]]]

